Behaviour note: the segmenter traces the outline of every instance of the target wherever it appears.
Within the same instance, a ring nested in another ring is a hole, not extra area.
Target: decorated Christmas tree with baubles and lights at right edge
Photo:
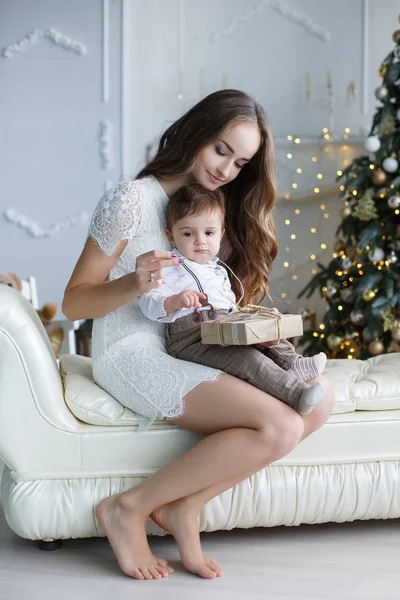
[[[400,17],[399,17],[400,21]],[[343,172],[342,221],[333,260],[300,292],[318,288],[327,303],[323,322],[300,339],[305,355],[365,359],[400,351],[400,29],[382,62],[382,84],[368,154]]]

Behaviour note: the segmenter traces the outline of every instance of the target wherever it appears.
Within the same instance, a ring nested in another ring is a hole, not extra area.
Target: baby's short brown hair
[[[167,227],[188,216],[220,211],[222,224],[225,220],[225,200],[219,190],[207,190],[199,183],[189,183],[173,194],[167,205]]]

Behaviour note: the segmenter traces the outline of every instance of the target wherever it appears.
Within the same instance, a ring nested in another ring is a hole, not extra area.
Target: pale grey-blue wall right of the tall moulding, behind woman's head
[[[296,193],[312,190],[320,169],[311,156],[324,159],[323,185],[334,184],[340,160],[351,159],[362,150],[375,111],[374,89],[379,84],[378,67],[393,49],[392,33],[400,5],[395,0],[288,0],[286,18],[268,8],[268,2],[243,0],[127,0],[124,4],[124,156],[125,173],[135,174],[145,163],[146,145],[154,145],[160,133],[203,95],[223,84],[246,90],[265,108],[278,148],[278,182],[283,194],[290,188],[293,169],[309,165],[298,178]],[[251,12],[260,7],[255,16]],[[314,35],[296,20],[306,16],[312,27],[329,36],[329,41]],[[180,25],[183,24],[182,26]],[[228,35],[223,35],[223,32]],[[217,34],[217,41],[212,35]],[[183,70],[183,99],[178,98],[179,70]],[[340,146],[324,154],[318,136],[329,126],[328,109],[314,105],[326,98],[327,71],[331,69],[335,96],[335,128],[345,127],[355,136],[354,148]],[[311,74],[311,99],[305,95],[305,74]],[[227,80],[225,78],[227,77]],[[354,80],[355,101],[347,104],[346,87]],[[314,138],[287,169],[287,134]],[[332,158],[330,158],[332,157]],[[302,163],[300,165],[300,163]],[[321,165],[321,163],[319,163]],[[326,206],[321,210],[320,205]],[[300,214],[295,209],[301,210]],[[340,202],[336,195],[323,201],[299,204],[282,202],[278,206],[280,253],[274,265],[272,293],[281,310],[295,311],[307,305],[318,308],[317,297],[297,300],[297,293],[310,280],[315,267],[311,254],[328,262],[334,233],[339,223]],[[324,218],[329,214],[329,218]],[[291,221],[290,226],[284,224]],[[311,233],[315,227],[317,232]],[[290,239],[292,233],[296,240]],[[321,243],[327,250],[321,250]],[[290,252],[285,248],[290,246]],[[283,263],[288,261],[289,268]],[[296,273],[298,279],[292,279]],[[281,294],[286,293],[282,299]],[[287,304],[289,300],[291,304]]]

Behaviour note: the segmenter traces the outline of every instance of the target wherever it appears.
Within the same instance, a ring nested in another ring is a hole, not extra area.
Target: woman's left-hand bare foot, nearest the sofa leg
[[[161,579],[173,572],[166,560],[152,554],[145,520],[125,499],[120,496],[104,498],[95,512],[126,575],[135,579]]]

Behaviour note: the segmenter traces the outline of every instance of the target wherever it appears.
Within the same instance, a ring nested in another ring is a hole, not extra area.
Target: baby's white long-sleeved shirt
[[[177,256],[182,256],[175,248],[173,252]],[[139,306],[148,319],[173,323],[176,319],[194,312],[194,308],[181,308],[167,315],[164,309],[165,300],[174,294],[179,294],[183,290],[201,291],[195,277],[186,270],[184,265],[194,273],[213,308],[216,310],[236,310],[236,297],[232,291],[228,273],[224,267],[218,264],[218,257],[205,264],[196,263],[185,256],[182,256],[182,258],[185,259],[183,264],[163,269],[163,282],[161,285],[141,295]],[[208,309],[203,307],[198,310]]]

